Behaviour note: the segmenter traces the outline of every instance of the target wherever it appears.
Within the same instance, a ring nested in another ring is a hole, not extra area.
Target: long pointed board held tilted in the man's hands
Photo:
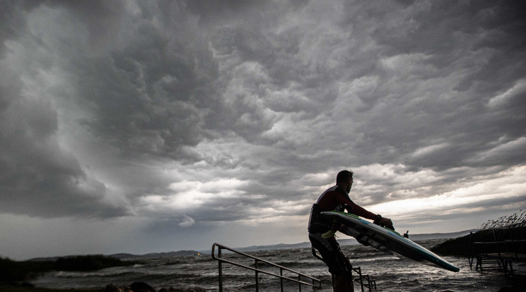
[[[344,225],[344,228],[338,229],[338,231],[348,236],[353,236],[363,245],[370,245],[377,250],[397,257],[407,257],[421,264],[440,267],[451,272],[460,271],[454,264],[423,248],[421,245],[410,241],[409,238],[404,238],[397,231],[373,224],[355,214],[336,211],[322,212],[321,214],[325,218],[339,221]]]

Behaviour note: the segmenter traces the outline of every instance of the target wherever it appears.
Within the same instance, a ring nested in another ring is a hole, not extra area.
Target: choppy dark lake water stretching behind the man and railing
[[[420,241],[426,248],[443,240]],[[341,247],[351,259],[353,267],[361,267],[363,274],[376,281],[378,291],[499,291],[511,286],[503,273],[484,273],[471,271],[465,257],[444,257],[445,260],[460,267],[460,272],[399,259],[380,253],[363,245]],[[322,280],[322,288],[317,291],[332,291],[331,277],[323,262],[312,257],[310,249],[285,249],[245,252],[283,267]],[[254,260],[244,260],[236,254],[224,253],[223,257],[247,265]],[[218,262],[209,254],[189,257],[150,258],[139,260],[141,264],[131,267],[112,267],[96,272],[49,272],[32,281],[33,284],[47,288],[100,288],[107,284],[128,286],[134,281],[144,281],[156,290],[160,288],[200,288],[205,291],[218,291]],[[279,274],[279,269],[259,265],[261,269]],[[524,273],[526,264],[514,264],[515,272]],[[285,274],[287,276],[287,274]],[[278,278],[259,275],[259,291],[281,291]],[[255,273],[223,264],[224,291],[255,291]],[[299,291],[298,284],[284,282],[284,291]],[[302,291],[312,291],[302,286]],[[355,291],[361,291],[355,284]],[[367,291],[367,289],[366,289]]]

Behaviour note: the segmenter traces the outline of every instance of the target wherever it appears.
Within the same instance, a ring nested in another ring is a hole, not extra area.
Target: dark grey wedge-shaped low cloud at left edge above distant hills
[[[2,72],[6,78],[0,87],[2,212],[42,217],[126,214],[122,207],[103,201],[103,183],[87,176],[74,155],[60,147],[51,102],[24,95],[21,82]]]

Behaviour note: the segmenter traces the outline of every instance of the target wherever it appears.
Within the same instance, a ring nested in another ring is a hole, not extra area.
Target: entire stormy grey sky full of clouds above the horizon
[[[1,1],[0,257],[308,241],[526,208],[520,1]]]

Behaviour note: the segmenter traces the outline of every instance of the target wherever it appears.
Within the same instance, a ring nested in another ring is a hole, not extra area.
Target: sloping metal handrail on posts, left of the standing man
[[[216,256],[216,247],[218,248],[217,256]],[[225,258],[221,257],[221,250],[229,250],[230,252],[237,253],[238,255],[242,255],[244,257],[250,257],[251,259],[255,260],[254,267],[249,267],[249,266],[247,266],[245,264],[240,264],[238,262],[233,262],[231,260],[226,260]],[[214,243],[214,245],[212,245],[212,258],[214,260],[218,261],[219,292],[223,292],[223,262],[228,263],[228,264],[233,264],[233,265],[235,265],[237,267],[242,267],[244,269],[251,269],[252,271],[254,271],[255,272],[255,282],[256,282],[256,292],[259,292],[259,281],[258,281],[259,273],[267,274],[267,275],[270,275],[270,276],[275,276],[275,277],[280,278],[280,284],[281,284],[281,291],[282,292],[284,291],[283,290],[284,279],[288,280],[288,281],[293,281],[293,282],[298,283],[298,288],[299,288],[300,292],[301,292],[301,285],[311,286],[313,289],[315,289],[315,288],[322,288],[322,281],[319,280],[319,279],[313,278],[312,276],[308,276],[306,274],[301,274],[300,272],[296,272],[293,269],[288,269],[286,267],[282,267],[279,264],[274,264],[273,262],[269,262],[267,260],[262,260],[262,259],[260,259],[258,257],[252,256],[252,255],[247,255],[246,253],[241,253],[238,250],[234,250],[232,248],[228,248],[227,246],[221,245],[221,244],[218,244],[218,243]],[[269,271],[258,269],[258,265],[257,265],[258,262],[261,262],[261,263],[264,263],[264,264],[269,264],[269,265],[271,265],[273,267],[278,267],[279,268],[279,274],[274,274],[274,273],[271,273]],[[284,276],[283,275],[284,270],[288,271],[288,272],[291,272],[293,274],[297,274],[298,275],[298,279],[293,279],[293,278],[290,278],[288,276]],[[312,283],[308,283],[306,281],[302,281],[302,277],[312,280]],[[317,285],[315,283],[317,283]]]

